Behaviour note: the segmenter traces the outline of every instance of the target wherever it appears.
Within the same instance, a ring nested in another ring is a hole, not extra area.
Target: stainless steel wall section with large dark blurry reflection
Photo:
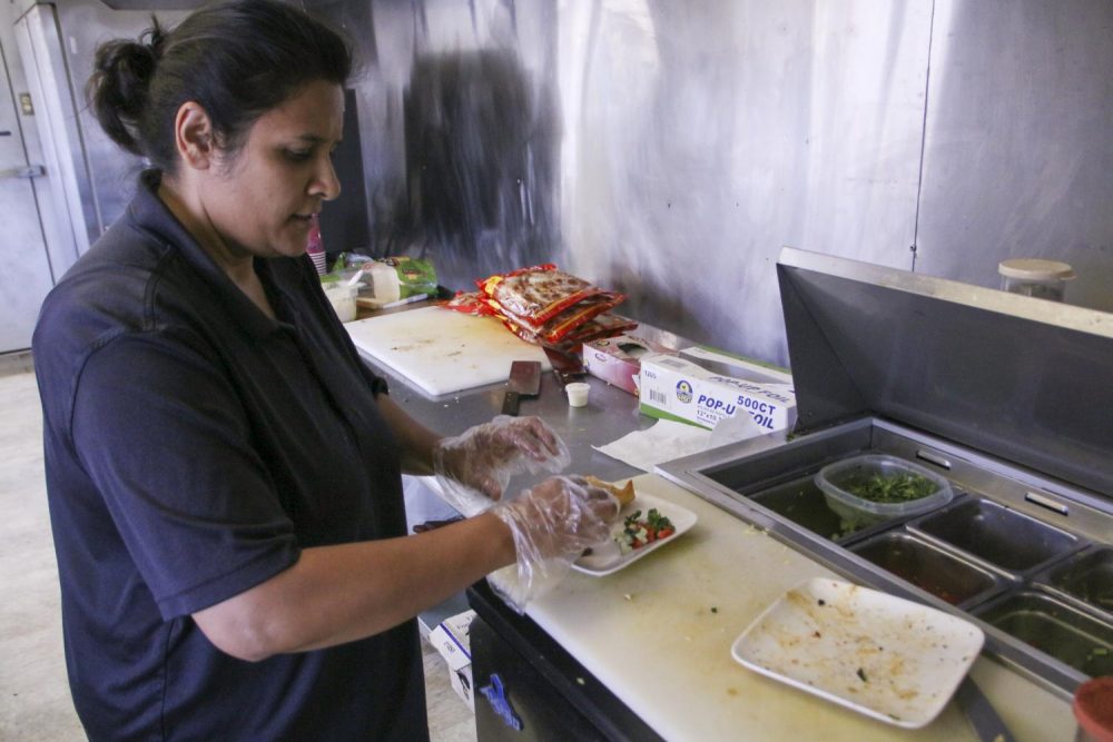
[[[430,257],[454,288],[550,259],[555,4],[374,2],[365,19],[355,88],[372,253]]]

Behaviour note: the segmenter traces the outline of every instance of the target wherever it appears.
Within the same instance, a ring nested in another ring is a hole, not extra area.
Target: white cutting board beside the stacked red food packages
[[[540,360],[541,346],[519,338],[494,317],[423,307],[344,325],[359,350],[432,396],[505,382],[513,360]]]

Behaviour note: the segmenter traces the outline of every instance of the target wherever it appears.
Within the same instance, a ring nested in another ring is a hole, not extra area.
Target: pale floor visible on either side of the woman
[[[0,355],[0,740],[83,740],[66,681],[58,574],[42,476],[42,419],[29,357]],[[430,734],[471,742],[471,711],[425,646]]]

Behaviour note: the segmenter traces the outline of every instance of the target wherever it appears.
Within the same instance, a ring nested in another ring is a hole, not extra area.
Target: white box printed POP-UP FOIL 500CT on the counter
[[[743,413],[767,432],[796,424],[791,375],[708,348],[641,358],[641,412],[708,429]]]

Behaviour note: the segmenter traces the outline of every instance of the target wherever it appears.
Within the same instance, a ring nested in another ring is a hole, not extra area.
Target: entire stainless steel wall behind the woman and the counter
[[[364,62],[370,251],[431,257],[452,288],[555,260],[634,317],[777,363],[785,245],[991,287],[1002,259],[1055,257],[1080,274],[1068,301],[1113,309],[1110,0],[305,4]],[[59,12],[75,93],[96,42],[147,20]],[[423,95],[471,98],[420,140],[415,70],[436,63]],[[78,116],[108,224],[137,161]],[[423,175],[430,141],[444,178]]]

